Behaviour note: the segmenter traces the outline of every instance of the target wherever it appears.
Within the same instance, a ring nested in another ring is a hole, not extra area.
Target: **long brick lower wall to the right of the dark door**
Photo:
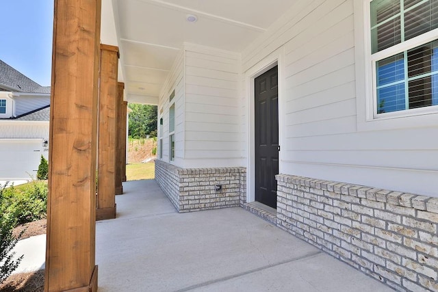
[[[394,289],[438,291],[438,198],[276,179],[277,226]]]

